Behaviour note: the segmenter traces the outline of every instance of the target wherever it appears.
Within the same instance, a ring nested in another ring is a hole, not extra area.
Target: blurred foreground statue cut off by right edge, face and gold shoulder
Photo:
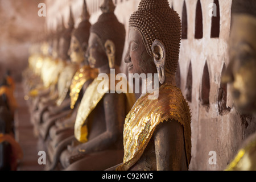
[[[232,2],[230,63],[222,76],[229,83],[234,106],[242,114],[256,113],[256,1]],[[226,170],[256,170],[256,133],[242,143]]]

